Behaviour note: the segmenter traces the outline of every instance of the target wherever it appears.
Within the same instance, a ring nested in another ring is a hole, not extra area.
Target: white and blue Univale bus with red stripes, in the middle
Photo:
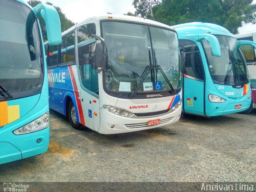
[[[179,120],[174,28],[132,16],[96,16],[64,32],[61,45],[46,42],[45,48],[49,106],[68,116],[73,128],[117,134]]]

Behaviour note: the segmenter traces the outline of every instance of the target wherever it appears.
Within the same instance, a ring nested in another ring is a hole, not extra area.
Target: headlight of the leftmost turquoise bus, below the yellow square
[[[22,135],[45,129],[49,126],[49,112],[43,114],[36,120],[13,131],[15,135]]]

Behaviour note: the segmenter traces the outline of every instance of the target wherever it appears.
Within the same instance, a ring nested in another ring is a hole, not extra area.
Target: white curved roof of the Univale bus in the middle
[[[130,22],[138,22],[138,23],[142,23],[142,24],[150,24],[150,25],[169,28],[169,29],[174,30],[174,28],[171,27],[171,26],[168,26],[166,24],[162,24],[160,22],[156,22],[156,21],[153,21],[153,20],[149,20],[149,19],[143,19],[143,18],[140,18],[140,17],[127,16],[127,15],[105,14],[105,15],[100,15],[100,16],[92,16],[90,18],[82,20],[81,22],[75,24],[74,26],[72,26],[68,30],[62,32],[62,36],[65,35],[65,34],[68,34],[71,31],[73,31],[76,27],[82,26],[82,25],[84,25],[86,23],[89,23],[89,22],[100,22],[100,20],[120,20],[120,21],[128,21],[128,22],[129,21]],[[47,45],[48,41],[45,42],[44,44]]]

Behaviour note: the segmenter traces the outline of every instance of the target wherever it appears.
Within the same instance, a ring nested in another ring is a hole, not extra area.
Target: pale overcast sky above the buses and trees
[[[41,0],[46,3],[47,0]],[[128,11],[134,13],[133,0],[48,0],[54,6],[62,9],[62,12],[72,22],[77,23],[85,18],[97,14],[124,14]],[[252,3],[256,4],[256,0]],[[239,33],[256,31],[256,24],[243,24],[238,28]]]

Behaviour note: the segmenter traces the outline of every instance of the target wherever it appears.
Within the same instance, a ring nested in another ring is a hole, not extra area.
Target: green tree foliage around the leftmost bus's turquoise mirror
[[[41,2],[38,1],[38,0],[29,0],[28,1],[28,4],[30,4],[30,6],[32,7],[35,7],[37,6],[38,4],[40,4]],[[52,3],[50,2],[46,2],[46,4],[48,5],[53,5]],[[72,27],[74,25],[74,23],[67,19],[65,14],[62,13],[62,10],[60,7],[57,7],[57,6],[54,6],[54,8],[57,10],[58,12],[58,15],[60,17],[60,24],[61,24],[61,31],[64,32],[65,30],[69,29],[70,27]],[[39,23],[40,23],[40,27],[41,27],[41,30],[42,30],[42,36],[43,36],[43,40],[44,42],[47,41],[47,34],[46,34],[46,26],[45,26],[45,22],[43,20],[43,18],[39,18]]]

